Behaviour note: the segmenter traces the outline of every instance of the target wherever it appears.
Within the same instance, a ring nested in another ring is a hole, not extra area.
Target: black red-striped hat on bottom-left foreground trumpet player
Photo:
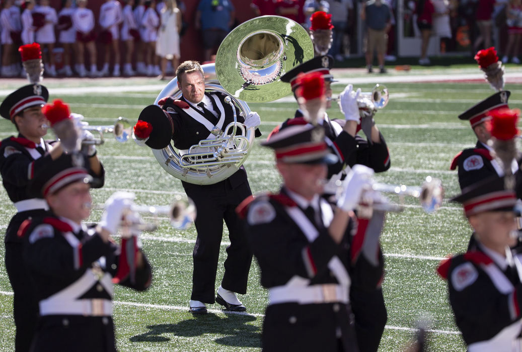
[[[29,184],[29,196],[44,198],[77,181],[86,184],[91,183],[93,177],[83,166],[85,162],[85,157],[82,154],[62,154],[56,160],[45,165],[34,176]]]

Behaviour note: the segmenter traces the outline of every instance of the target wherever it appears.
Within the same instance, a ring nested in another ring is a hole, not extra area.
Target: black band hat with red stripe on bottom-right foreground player
[[[452,199],[462,203],[467,217],[486,211],[514,211],[515,191],[506,189],[504,177],[492,176],[472,184]]]

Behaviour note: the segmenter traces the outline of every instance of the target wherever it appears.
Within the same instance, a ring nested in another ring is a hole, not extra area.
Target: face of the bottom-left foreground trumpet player
[[[91,213],[90,186],[82,181],[72,183],[58,190],[45,200],[54,214],[66,217],[79,224]]]

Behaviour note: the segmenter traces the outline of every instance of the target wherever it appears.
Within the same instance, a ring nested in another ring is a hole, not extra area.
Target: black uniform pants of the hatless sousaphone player
[[[240,171],[243,172],[243,171]],[[223,220],[229,230],[230,246],[227,247],[225,272],[221,286],[239,294],[246,293],[248,271],[252,263],[252,251],[248,245],[243,225],[235,208],[252,195],[246,180],[232,186],[226,179],[213,185],[183,183],[187,196],[196,205],[197,238],[194,246],[192,274],[192,300],[212,304],[215,302],[216,273],[223,236]]]

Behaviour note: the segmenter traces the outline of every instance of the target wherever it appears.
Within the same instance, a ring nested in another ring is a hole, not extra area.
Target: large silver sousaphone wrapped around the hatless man
[[[233,55],[235,53],[236,55]],[[298,23],[279,16],[262,16],[242,23],[221,43],[216,64],[202,65],[207,91],[229,96],[228,103],[237,106],[246,117],[250,107],[245,101],[272,101],[291,92],[280,76],[313,58],[310,36]],[[158,94],[155,104],[165,96],[179,99],[182,92],[177,78]],[[232,109],[235,115],[235,108]],[[241,134],[235,136],[236,131]],[[218,183],[239,170],[254,145],[255,129],[234,122],[223,131],[212,131],[215,139],[201,140],[187,151],[179,151],[170,143],[152,153],[172,176],[188,183]]]

